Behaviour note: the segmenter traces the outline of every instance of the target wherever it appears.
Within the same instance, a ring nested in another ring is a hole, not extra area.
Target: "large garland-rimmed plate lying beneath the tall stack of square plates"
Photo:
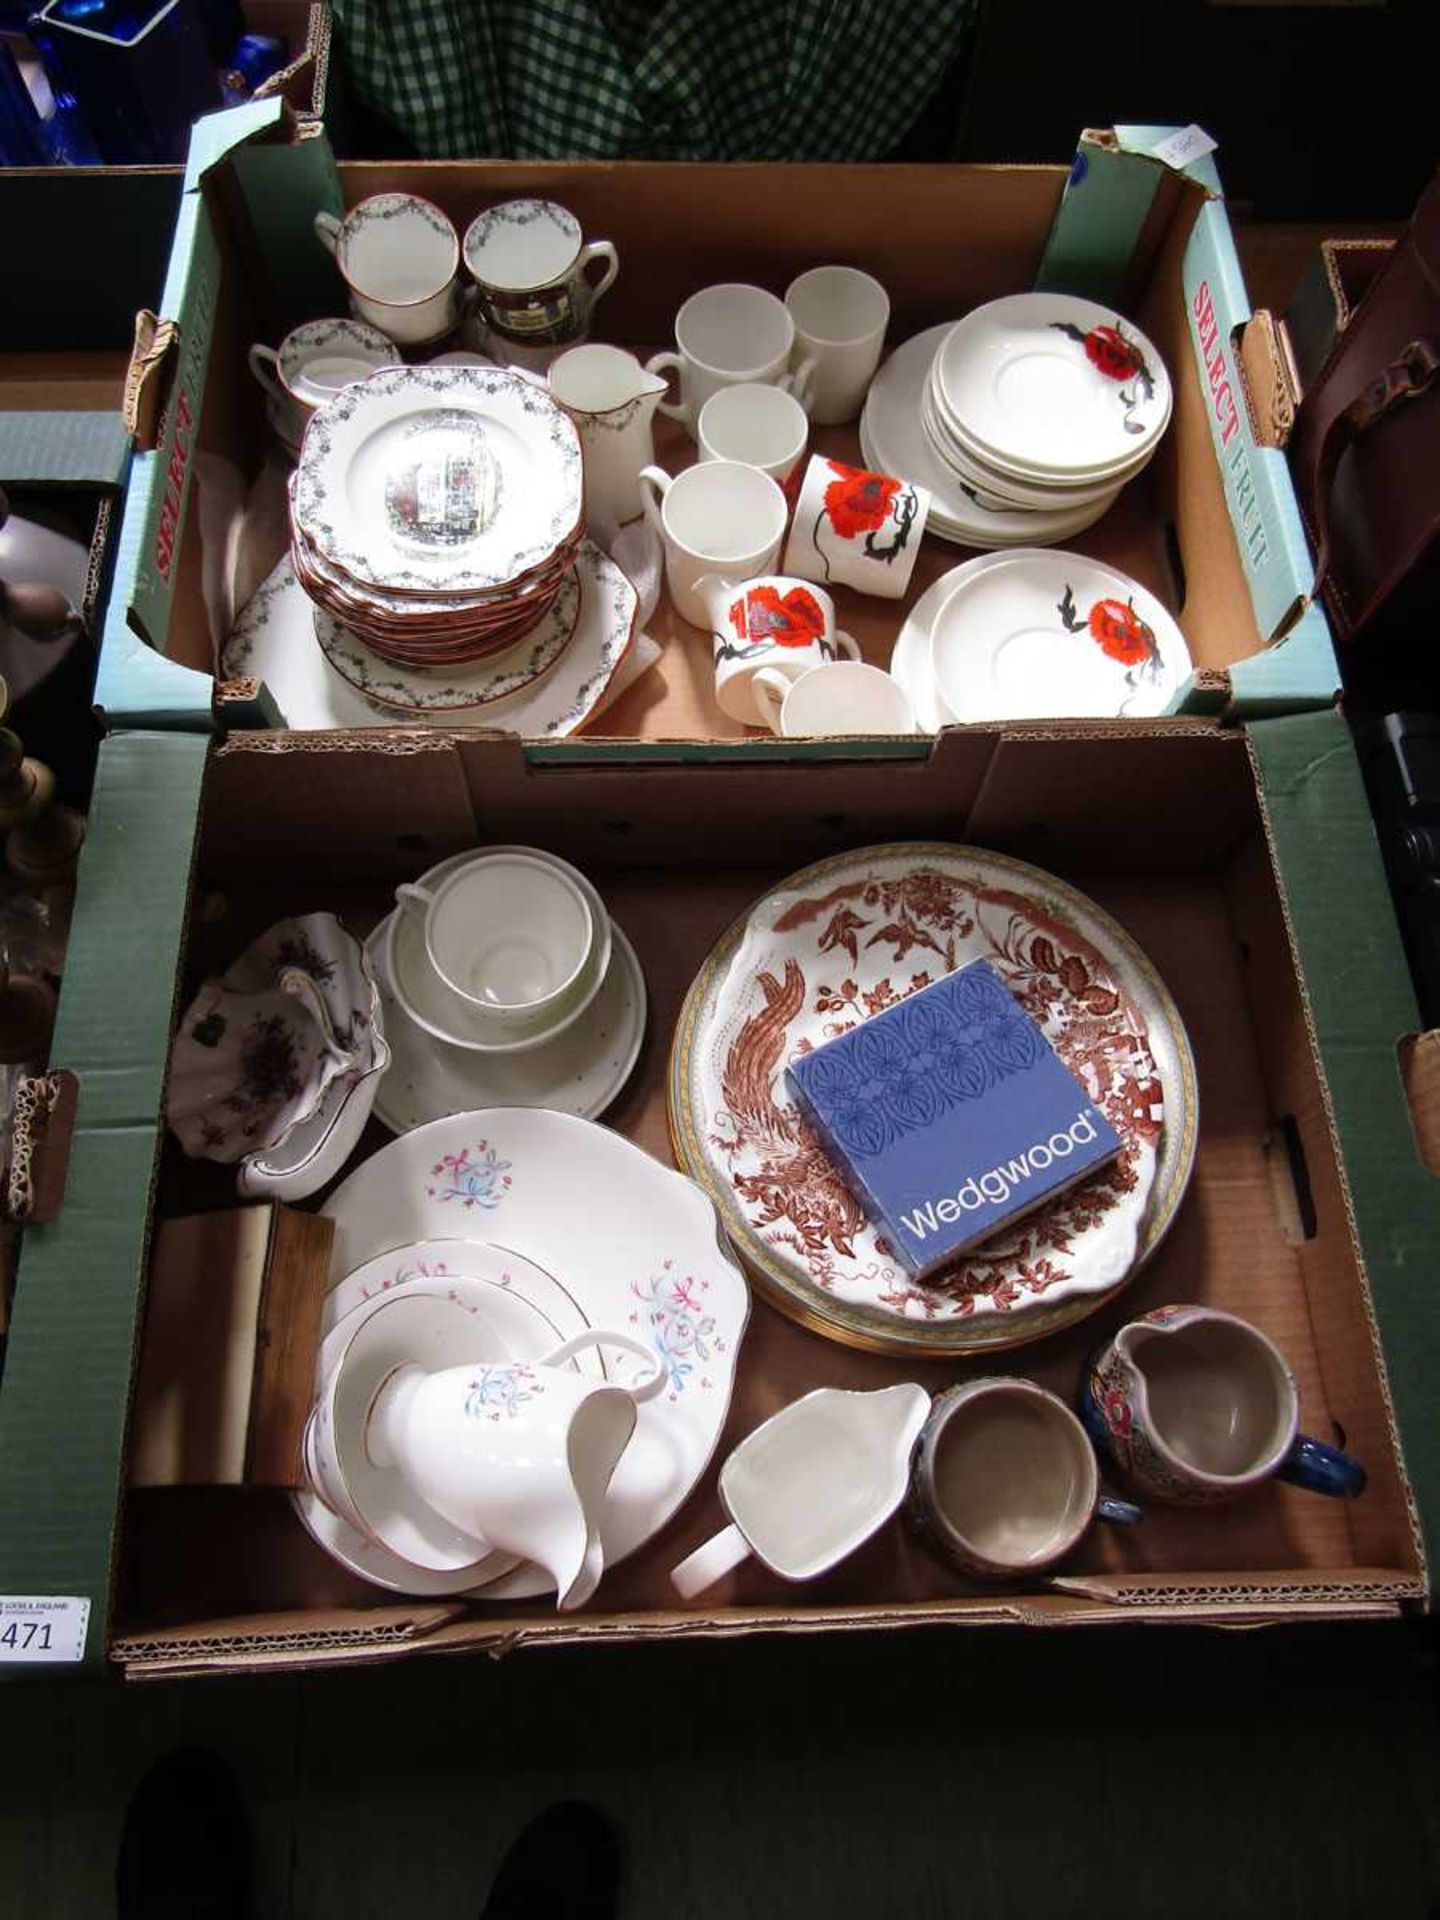
[[[526,739],[564,739],[589,720],[636,641],[639,599],[628,576],[593,541],[576,559],[580,620],[555,666],[518,693],[486,707],[482,724]],[[315,607],[286,555],[255,589],[221,651],[225,680],[263,680],[284,724],[296,730],[397,726],[324,659],[315,641]],[[415,714],[411,726],[451,716]]]

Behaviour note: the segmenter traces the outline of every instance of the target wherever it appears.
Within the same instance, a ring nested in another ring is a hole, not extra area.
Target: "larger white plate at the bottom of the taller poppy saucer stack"
[[[866,465],[929,488],[925,532],[966,547],[1037,547],[1048,540],[1069,540],[1092,526],[1110,507],[1104,495],[1054,515],[1020,509],[995,513],[966,493],[960,478],[939,459],[925,438],[920,405],[935,349],[948,330],[945,323],[906,340],[870,382],[860,415]]]

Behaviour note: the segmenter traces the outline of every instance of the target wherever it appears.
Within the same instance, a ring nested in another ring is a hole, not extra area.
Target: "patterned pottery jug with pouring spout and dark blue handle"
[[[1217,1308],[1156,1308],[1091,1361],[1081,1419],[1104,1455],[1156,1500],[1212,1505],[1265,1480],[1354,1500],[1365,1469],[1309,1440],[1284,1356]]]

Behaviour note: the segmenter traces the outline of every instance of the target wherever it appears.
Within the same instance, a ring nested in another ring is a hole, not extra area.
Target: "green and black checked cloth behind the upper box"
[[[428,159],[877,159],[977,0],[332,0],[349,83]]]

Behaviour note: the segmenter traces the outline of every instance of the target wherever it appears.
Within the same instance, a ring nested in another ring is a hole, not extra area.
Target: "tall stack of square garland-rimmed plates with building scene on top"
[[[580,436],[501,367],[386,367],[317,409],[296,578],[369,653],[453,668],[543,622],[584,532]]]

